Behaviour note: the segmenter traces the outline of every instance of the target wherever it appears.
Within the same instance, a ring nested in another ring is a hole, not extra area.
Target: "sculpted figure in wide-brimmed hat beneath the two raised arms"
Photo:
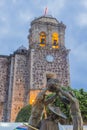
[[[41,121],[40,130],[62,130],[59,128],[58,122],[61,118],[66,119],[66,116],[60,111],[59,107],[49,105],[51,111],[47,119]]]

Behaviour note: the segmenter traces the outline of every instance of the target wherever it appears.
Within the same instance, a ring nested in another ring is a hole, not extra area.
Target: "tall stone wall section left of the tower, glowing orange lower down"
[[[28,103],[27,95],[29,91],[27,55],[15,54],[14,60],[14,77],[10,121],[15,121],[20,109]]]

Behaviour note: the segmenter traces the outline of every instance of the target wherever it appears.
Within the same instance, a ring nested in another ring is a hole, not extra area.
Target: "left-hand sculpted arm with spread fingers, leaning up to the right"
[[[31,111],[31,116],[29,118],[29,125],[32,125],[33,127],[37,127],[39,122],[42,119],[42,115],[43,115],[43,111],[44,111],[44,107],[46,105],[48,105],[49,103],[51,103],[56,95],[52,96],[49,99],[45,99],[46,96],[46,91],[48,90],[48,88],[44,88],[36,97],[35,102],[32,106],[32,111]],[[30,129],[29,129],[30,130]]]

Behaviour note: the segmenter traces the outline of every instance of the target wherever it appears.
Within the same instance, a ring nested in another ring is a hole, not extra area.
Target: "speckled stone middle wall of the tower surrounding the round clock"
[[[54,53],[55,52],[55,53]],[[46,60],[47,55],[54,56],[53,62]],[[69,86],[69,66],[66,51],[62,50],[37,50],[33,52],[32,64],[32,85],[31,89],[41,89],[45,87],[47,75],[59,79],[62,86]]]

